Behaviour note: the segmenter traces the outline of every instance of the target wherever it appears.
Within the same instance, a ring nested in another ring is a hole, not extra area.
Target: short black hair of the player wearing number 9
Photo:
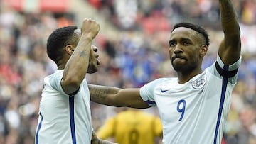
[[[206,45],[207,46],[210,45],[209,35],[208,35],[207,31],[205,30],[205,28],[203,28],[202,26],[198,26],[195,23],[181,22],[181,23],[176,23],[174,25],[174,28],[172,29],[172,31],[174,31],[174,29],[179,28],[179,27],[191,28],[192,30],[197,31],[198,33],[201,33],[201,35],[203,35],[203,38],[205,38]]]

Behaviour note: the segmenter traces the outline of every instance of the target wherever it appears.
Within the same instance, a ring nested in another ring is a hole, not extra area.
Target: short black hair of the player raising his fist
[[[60,58],[63,56],[63,48],[65,45],[74,44],[74,31],[77,28],[77,26],[65,26],[56,29],[49,35],[46,44],[47,55],[56,64],[58,63],[58,60],[60,60]]]

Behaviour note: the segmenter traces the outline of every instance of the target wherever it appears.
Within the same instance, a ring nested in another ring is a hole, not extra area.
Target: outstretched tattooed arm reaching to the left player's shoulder
[[[139,89],[119,89],[88,84],[91,101],[108,106],[124,106],[132,108],[148,108],[149,105],[142,100]]]

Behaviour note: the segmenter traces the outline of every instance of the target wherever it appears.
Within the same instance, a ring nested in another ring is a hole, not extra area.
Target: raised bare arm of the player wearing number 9
[[[240,57],[240,27],[238,16],[231,0],[219,0],[219,4],[224,40],[220,43],[218,54],[225,65],[230,65],[236,62]]]

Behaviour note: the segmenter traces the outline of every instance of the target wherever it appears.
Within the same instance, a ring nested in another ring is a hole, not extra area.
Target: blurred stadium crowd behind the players
[[[242,38],[242,65],[225,126],[223,144],[256,143],[256,0],[233,0]],[[46,55],[48,35],[83,18],[101,25],[94,40],[100,70],[91,84],[141,87],[159,77],[175,77],[169,62],[169,35],[180,21],[204,26],[216,58],[223,38],[216,0],[0,0],[0,144],[34,143],[43,77],[56,70]],[[122,109],[92,103],[95,130]],[[156,108],[144,109],[158,116]],[[168,111],[168,110],[166,110]]]

